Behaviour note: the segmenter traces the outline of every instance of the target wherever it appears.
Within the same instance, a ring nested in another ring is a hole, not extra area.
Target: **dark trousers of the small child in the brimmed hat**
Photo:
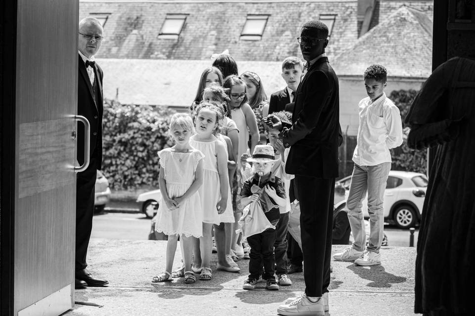
[[[251,247],[249,253],[249,279],[259,279],[264,264],[264,274],[262,278],[276,279],[274,276],[274,242],[276,240],[276,230],[268,228],[264,232],[247,237],[247,242]]]

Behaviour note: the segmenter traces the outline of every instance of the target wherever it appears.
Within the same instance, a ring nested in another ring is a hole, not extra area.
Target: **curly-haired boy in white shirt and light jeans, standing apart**
[[[402,144],[402,122],[399,109],[386,97],[386,69],[371,65],[364,74],[367,98],[358,104],[359,126],[353,154],[353,174],[346,201],[348,220],[355,241],[351,247],[336,253],[338,261],[354,261],[356,265],[373,266],[381,263],[380,247],[383,238],[383,197],[391,169],[389,149]],[[366,245],[366,231],[361,201],[368,193],[370,237]]]

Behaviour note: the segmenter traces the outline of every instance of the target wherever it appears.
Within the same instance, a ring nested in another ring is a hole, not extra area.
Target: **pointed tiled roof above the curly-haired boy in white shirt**
[[[388,76],[427,78],[432,67],[432,21],[423,11],[402,5],[333,61],[337,75],[362,76],[371,64]]]

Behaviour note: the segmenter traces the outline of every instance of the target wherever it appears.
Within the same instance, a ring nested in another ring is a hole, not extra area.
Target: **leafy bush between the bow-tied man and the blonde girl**
[[[112,189],[158,188],[157,151],[172,146],[168,119],[173,113],[166,108],[105,100],[102,170]]]

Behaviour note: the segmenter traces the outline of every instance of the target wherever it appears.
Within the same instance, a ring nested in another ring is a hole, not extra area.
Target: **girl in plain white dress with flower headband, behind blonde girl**
[[[234,222],[228,179],[228,152],[213,133],[222,124],[220,110],[213,104],[200,103],[193,112],[196,134],[190,145],[204,154],[203,186],[198,190],[203,208],[203,237],[194,245],[194,267],[200,267],[201,280],[211,279],[211,228],[213,224]],[[219,259],[219,258],[218,258]],[[229,266],[222,258],[221,266]],[[201,262],[200,262],[201,260]],[[218,268],[220,268],[220,265]],[[230,267],[230,266],[229,266]]]

